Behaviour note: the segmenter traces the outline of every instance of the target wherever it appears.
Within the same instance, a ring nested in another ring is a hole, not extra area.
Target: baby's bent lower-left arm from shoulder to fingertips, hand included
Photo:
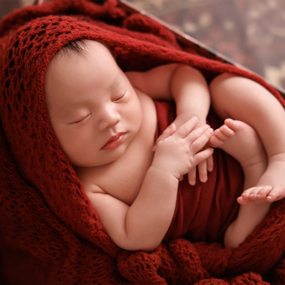
[[[210,148],[198,152],[212,129],[204,125],[191,132],[196,123],[197,120],[189,120],[158,143],[152,165],[131,206],[98,193],[96,186],[86,190],[103,227],[119,247],[151,251],[162,241],[175,210],[178,178],[212,154]]]

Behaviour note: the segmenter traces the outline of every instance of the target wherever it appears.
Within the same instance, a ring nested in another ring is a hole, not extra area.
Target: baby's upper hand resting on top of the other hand
[[[177,130],[173,125],[170,127],[172,135],[169,135],[170,131],[166,129],[169,136],[158,141],[152,166],[179,179],[209,157],[213,148],[198,151],[208,142],[213,129],[203,125],[193,131],[197,121],[196,117],[192,117]]]

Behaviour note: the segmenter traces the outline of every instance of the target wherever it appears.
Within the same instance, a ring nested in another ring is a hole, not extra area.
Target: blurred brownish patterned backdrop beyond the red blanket
[[[285,0],[127,0],[285,89]],[[0,19],[34,0],[0,0]]]

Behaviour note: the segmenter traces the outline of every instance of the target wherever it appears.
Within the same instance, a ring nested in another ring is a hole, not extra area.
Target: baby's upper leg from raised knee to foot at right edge
[[[267,201],[285,197],[285,111],[280,102],[258,83],[229,74],[217,76],[209,86],[212,107],[222,119],[251,125],[268,156],[268,166],[253,186],[272,186]],[[244,200],[257,199],[257,188],[244,192]],[[252,194],[250,196],[250,194]]]

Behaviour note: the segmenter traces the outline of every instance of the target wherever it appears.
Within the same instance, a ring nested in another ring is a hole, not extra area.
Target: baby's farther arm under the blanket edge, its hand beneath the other
[[[131,84],[155,100],[174,100],[177,117],[174,121],[180,127],[192,116],[198,117],[200,127],[206,123],[210,108],[208,84],[200,71],[183,64],[166,64],[145,72],[126,72]],[[213,169],[213,158],[198,165],[200,181],[207,180],[207,170]],[[191,185],[196,183],[196,168],[188,173]]]

